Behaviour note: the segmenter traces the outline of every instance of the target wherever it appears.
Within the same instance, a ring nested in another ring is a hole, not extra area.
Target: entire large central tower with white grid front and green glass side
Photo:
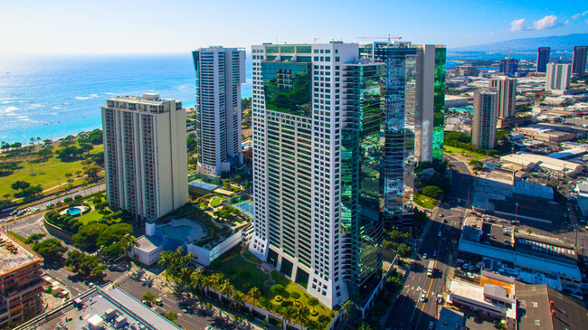
[[[326,306],[366,306],[382,278],[385,64],[355,43],[251,48],[249,249]]]

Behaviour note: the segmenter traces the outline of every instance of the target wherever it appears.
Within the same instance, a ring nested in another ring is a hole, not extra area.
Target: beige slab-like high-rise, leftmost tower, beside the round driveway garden
[[[108,99],[102,127],[110,205],[149,220],[188,202],[182,102],[159,94]]]

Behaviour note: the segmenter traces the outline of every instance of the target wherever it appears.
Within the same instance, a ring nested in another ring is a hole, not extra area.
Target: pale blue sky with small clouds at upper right
[[[588,33],[582,0],[0,0],[0,8],[0,54],[249,49],[388,34],[451,48]]]

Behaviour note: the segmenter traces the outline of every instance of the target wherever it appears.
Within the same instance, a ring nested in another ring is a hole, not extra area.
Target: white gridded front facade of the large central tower
[[[358,45],[251,48],[255,231],[249,249],[289,278],[308,283],[308,293],[332,308],[349,298],[339,150],[346,97],[342,81],[346,63],[358,61]],[[266,104],[264,77],[271,74],[278,84],[291,83],[297,74],[307,77],[308,108],[277,111]]]

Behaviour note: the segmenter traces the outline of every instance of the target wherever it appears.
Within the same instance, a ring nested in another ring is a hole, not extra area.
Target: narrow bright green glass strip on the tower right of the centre
[[[443,160],[445,129],[445,47],[435,48],[435,85],[433,99],[432,158]]]

